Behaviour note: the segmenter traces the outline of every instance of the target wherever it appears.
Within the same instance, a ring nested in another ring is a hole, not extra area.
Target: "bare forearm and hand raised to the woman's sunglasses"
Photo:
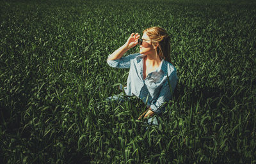
[[[113,60],[120,59],[122,56],[124,56],[124,54],[125,54],[125,52],[127,52],[127,50],[129,50],[130,48],[132,48],[138,44],[138,38],[140,38],[139,33],[136,33],[136,34],[132,33],[129,36],[126,43],[124,45],[122,45],[122,47],[115,50],[115,52],[113,52],[111,54],[111,56],[108,57],[107,60],[113,61]]]

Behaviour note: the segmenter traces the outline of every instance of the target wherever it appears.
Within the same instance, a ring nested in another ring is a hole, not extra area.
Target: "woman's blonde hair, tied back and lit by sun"
[[[160,59],[164,59],[171,63],[170,58],[170,36],[167,31],[161,27],[148,27],[143,31],[150,38],[152,44],[156,47],[157,43],[159,44],[157,47],[157,54]]]

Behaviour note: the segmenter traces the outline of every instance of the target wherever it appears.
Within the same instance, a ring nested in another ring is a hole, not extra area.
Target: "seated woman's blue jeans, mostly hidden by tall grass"
[[[124,93],[120,93],[120,94],[116,94],[114,96],[110,96],[110,97],[106,98],[106,101],[109,101],[109,102],[112,101],[112,102],[115,102],[119,105],[120,103],[124,103],[125,101],[129,101],[130,98],[131,98],[131,96],[126,96],[126,95],[124,95]],[[158,123],[157,116],[155,115],[154,117],[148,118],[147,124],[158,126],[159,123]],[[147,129],[148,129],[148,127],[146,128],[146,130]]]

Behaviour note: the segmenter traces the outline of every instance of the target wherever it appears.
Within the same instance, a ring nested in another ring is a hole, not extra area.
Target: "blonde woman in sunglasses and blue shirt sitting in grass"
[[[140,53],[123,57],[137,44],[140,45]],[[125,94],[137,96],[148,107],[138,119],[164,112],[165,104],[172,98],[177,84],[176,69],[170,63],[170,36],[166,30],[149,27],[143,31],[141,39],[140,34],[132,33],[122,47],[109,55],[107,62],[114,68],[130,68]],[[114,96],[117,97],[124,100],[121,94]],[[153,124],[158,123],[154,120]]]

